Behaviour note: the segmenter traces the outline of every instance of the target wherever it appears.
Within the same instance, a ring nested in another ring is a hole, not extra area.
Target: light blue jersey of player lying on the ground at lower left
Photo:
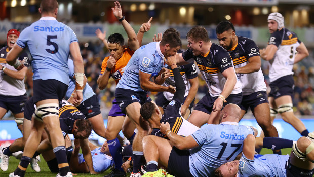
[[[102,153],[100,151],[101,147],[94,149],[91,151],[92,160],[93,160],[93,167],[94,170],[98,173],[106,171],[113,165],[112,157]],[[83,158],[83,154],[78,154],[78,163],[85,162]]]

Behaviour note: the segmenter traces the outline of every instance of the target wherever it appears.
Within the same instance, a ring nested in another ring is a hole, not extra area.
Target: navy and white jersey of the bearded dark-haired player
[[[238,36],[238,44],[229,50],[235,68],[243,67],[249,63],[249,58],[260,56],[259,48],[249,38]],[[258,91],[266,91],[266,84],[262,70],[250,74],[238,74],[237,78],[242,84],[242,95],[250,95]]]

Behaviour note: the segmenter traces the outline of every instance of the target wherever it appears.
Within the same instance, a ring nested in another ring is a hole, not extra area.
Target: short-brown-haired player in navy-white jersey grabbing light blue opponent
[[[188,121],[198,127],[205,123],[217,124],[219,111],[224,105],[241,103],[241,83],[237,80],[228,51],[212,43],[204,27],[193,27],[186,38],[188,50],[178,54],[177,64],[196,61],[209,89],[195,106]]]

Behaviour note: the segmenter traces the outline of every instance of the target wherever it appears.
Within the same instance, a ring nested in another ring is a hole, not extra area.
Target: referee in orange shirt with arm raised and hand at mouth
[[[119,33],[111,34],[108,37],[108,49],[110,51],[110,56],[106,57],[101,65],[101,73],[97,79],[97,84],[99,89],[105,89],[108,84],[108,80],[112,77],[116,84],[119,82],[121,77],[123,76],[124,70],[126,68],[127,63],[129,62],[131,56],[133,55],[134,51],[140,47],[138,42],[138,38],[135,34],[135,31],[131,27],[131,25],[125,20],[125,17],[122,15],[122,9],[119,2],[114,2],[115,8],[112,8],[114,16],[121,22],[122,26],[124,27],[127,35],[128,35],[128,47],[124,45],[123,36]],[[148,31],[150,29],[150,19],[147,24],[143,24],[138,32],[140,33]],[[145,30],[143,30],[143,26],[145,26]],[[101,32],[101,31],[98,31]],[[98,34],[99,36],[100,34]],[[104,35],[100,35],[104,36]],[[142,36],[143,37],[143,36]],[[105,38],[105,37],[103,37]],[[104,40],[103,40],[104,41]],[[104,41],[106,42],[106,41]],[[110,109],[109,116],[108,116],[108,123],[107,123],[107,130],[105,133],[110,154],[114,160],[115,170],[113,170],[109,176],[121,176],[125,175],[125,172],[121,168],[122,165],[122,156],[121,156],[121,146],[119,145],[119,140],[117,138],[119,132],[122,129],[122,125],[125,124],[128,126],[132,131],[131,134],[125,133],[125,136],[128,138],[129,141],[132,142],[132,139],[135,136],[134,124],[129,120],[125,119],[126,114],[123,113],[117,104],[116,100],[112,101],[112,108]],[[125,122],[125,123],[124,123]]]

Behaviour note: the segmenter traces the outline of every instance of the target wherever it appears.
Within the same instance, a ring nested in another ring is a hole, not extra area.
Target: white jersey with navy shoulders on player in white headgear
[[[270,82],[276,81],[283,76],[292,75],[295,50],[301,44],[297,34],[287,28],[283,28],[271,34],[268,41],[269,44],[278,47],[273,59],[269,61]]]

